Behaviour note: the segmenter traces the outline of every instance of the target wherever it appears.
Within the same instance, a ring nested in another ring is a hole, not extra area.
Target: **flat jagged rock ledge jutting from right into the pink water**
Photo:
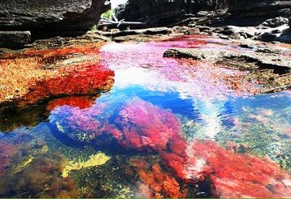
[[[222,65],[227,69],[249,71],[248,80],[260,80],[261,93],[273,93],[291,88],[290,52],[259,48],[256,51],[227,51],[221,49],[168,49],[164,57],[192,58]]]

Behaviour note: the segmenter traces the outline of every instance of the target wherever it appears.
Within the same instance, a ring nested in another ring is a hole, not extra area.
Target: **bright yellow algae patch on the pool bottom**
[[[110,160],[110,156],[106,156],[106,154],[99,152],[97,154],[93,154],[92,156],[90,156],[90,158],[87,161],[81,161],[81,160],[69,161],[67,165],[64,167],[64,170],[62,172],[62,177],[63,178],[68,177],[68,173],[73,170],[79,170],[82,168],[103,165],[107,163],[107,161],[109,160]]]

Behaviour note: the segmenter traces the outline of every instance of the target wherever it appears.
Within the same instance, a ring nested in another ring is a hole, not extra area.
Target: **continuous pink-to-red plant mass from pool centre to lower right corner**
[[[197,183],[210,178],[213,196],[223,198],[291,196],[289,174],[270,159],[236,154],[233,150],[220,147],[215,141],[194,140],[190,144],[186,143],[179,135],[180,124],[172,113],[166,113],[166,110],[138,98],[132,102],[127,103],[120,112],[120,124],[125,137],[123,145],[138,150],[155,150],[164,163],[186,183]],[[170,152],[166,153],[167,150]],[[155,185],[151,175],[153,174],[140,172],[140,178],[146,184]],[[158,187],[155,191],[160,189]]]

